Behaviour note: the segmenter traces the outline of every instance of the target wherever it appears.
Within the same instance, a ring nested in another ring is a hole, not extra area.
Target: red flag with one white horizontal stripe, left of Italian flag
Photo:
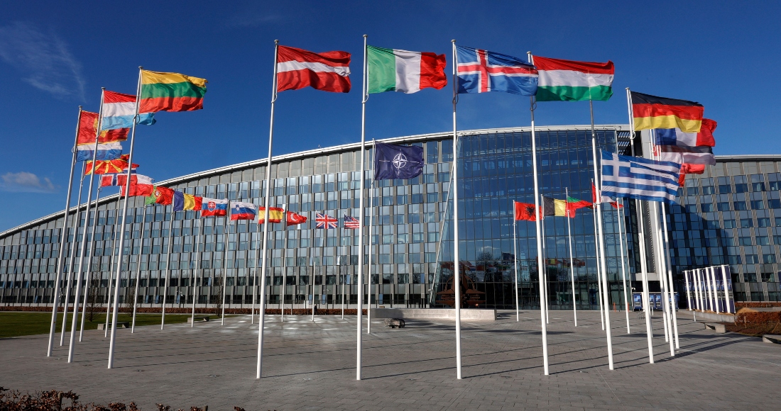
[[[313,53],[279,46],[276,53],[276,90],[312,87],[333,93],[350,92],[350,53]]]

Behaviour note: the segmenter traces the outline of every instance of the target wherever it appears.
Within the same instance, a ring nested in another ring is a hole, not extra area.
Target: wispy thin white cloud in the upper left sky
[[[54,94],[84,101],[81,63],[54,32],[43,33],[29,23],[0,27],[0,58],[23,73],[22,80]]]

